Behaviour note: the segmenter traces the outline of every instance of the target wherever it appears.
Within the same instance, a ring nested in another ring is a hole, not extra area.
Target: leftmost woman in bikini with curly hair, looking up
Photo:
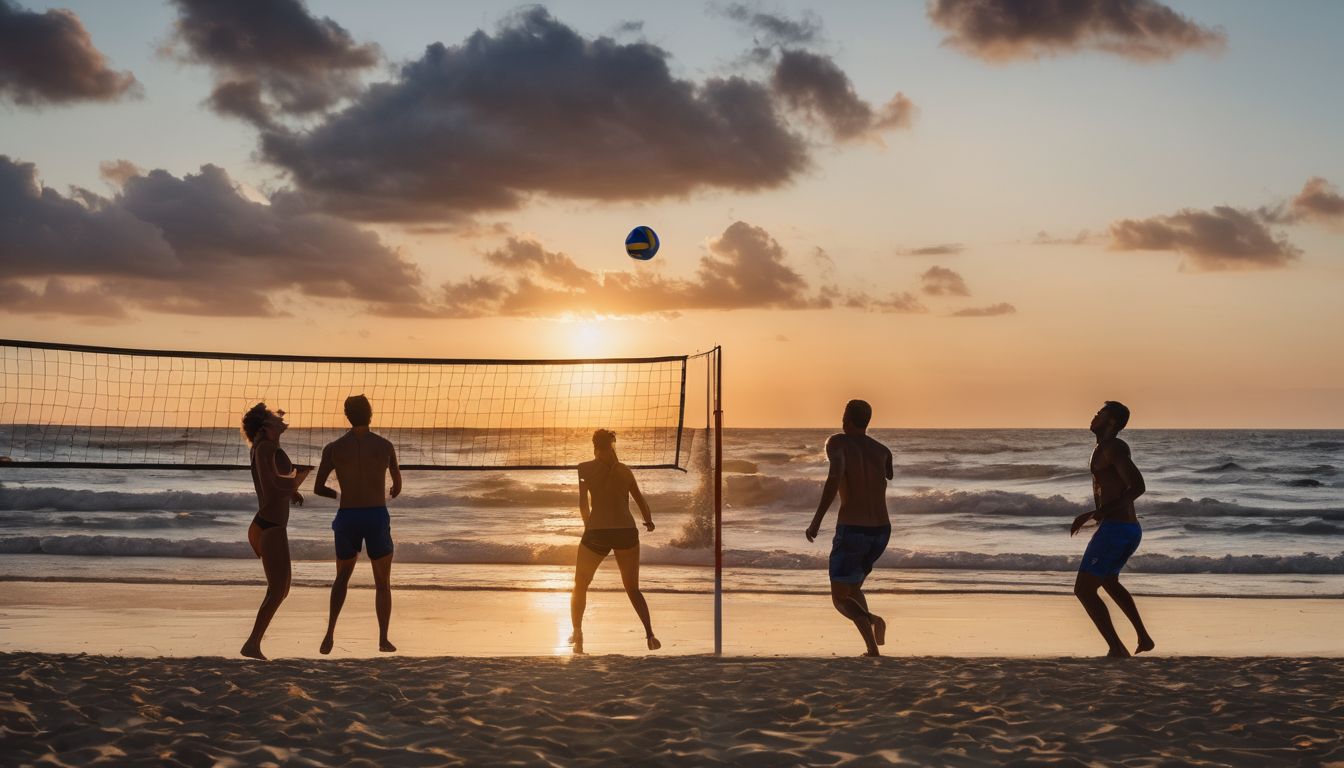
[[[253,633],[241,651],[251,659],[266,658],[261,652],[262,635],[289,594],[289,534],[285,531],[289,503],[302,506],[298,487],[312,471],[312,467],[294,467],[280,448],[280,434],[289,429],[284,417],[284,410],[271,413],[263,402],[243,414],[243,436],[251,444],[253,488],[257,491],[257,516],[247,529],[247,542],[266,572],[266,599],[257,609]]]

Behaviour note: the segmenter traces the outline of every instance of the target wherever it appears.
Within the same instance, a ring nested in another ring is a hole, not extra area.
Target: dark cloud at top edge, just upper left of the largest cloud
[[[312,114],[355,95],[359,73],[378,63],[378,47],[358,44],[302,0],[172,0],[180,58],[218,78],[208,104],[257,125],[273,116]]]

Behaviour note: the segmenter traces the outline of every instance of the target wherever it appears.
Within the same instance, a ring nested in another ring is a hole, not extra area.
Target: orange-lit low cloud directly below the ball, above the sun
[[[531,239],[509,238],[485,254],[500,274],[445,284],[430,307],[388,307],[390,313],[453,317],[489,315],[642,315],[689,309],[824,309],[828,296],[812,292],[786,262],[784,249],[761,227],[737,222],[708,243],[691,280],[648,266],[597,273]]]

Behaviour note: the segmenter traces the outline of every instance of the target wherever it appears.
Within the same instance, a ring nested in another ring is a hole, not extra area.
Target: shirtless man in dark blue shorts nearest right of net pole
[[[872,573],[891,539],[887,516],[887,480],[892,477],[891,451],[868,437],[872,406],[851,399],[844,406],[844,432],[827,440],[831,472],[821,488],[821,503],[808,526],[808,541],[821,530],[821,518],[840,494],[840,518],[831,542],[831,603],[853,621],[867,646],[866,656],[879,656],[878,646],[887,642],[887,623],[868,611],[863,581]]]

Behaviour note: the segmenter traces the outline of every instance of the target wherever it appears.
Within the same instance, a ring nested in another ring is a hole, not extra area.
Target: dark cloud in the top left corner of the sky
[[[108,67],[70,11],[26,11],[0,0],[0,100],[22,106],[118,101],[140,94],[129,71]]]

